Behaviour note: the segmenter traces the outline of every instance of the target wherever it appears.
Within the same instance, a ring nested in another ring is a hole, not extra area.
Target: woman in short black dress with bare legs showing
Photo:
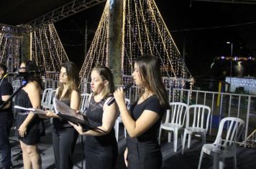
[[[35,62],[27,61],[21,64],[22,72],[37,72]],[[27,85],[20,90],[15,97],[15,105],[27,108],[41,107],[42,80],[35,74],[27,74],[24,77]],[[16,129],[19,143],[22,148],[24,169],[42,168],[40,153],[37,143],[40,142],[40,118],[33,112],[15,110],[17,112]]]

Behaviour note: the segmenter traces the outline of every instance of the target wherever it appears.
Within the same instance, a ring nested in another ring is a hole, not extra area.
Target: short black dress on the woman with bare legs
[[[29,95],[27,95],[27,92],[24,90],[20,90],[16,97],[15,97],[15,105],[19,105],[22,107],[31,108],[32,104],[29,100]],[[17,136],[19,140],[21,140],[26,145],[35,145],[40,142],[40,118],[35,115],[34,118],[29,122],[29,125],[27,126],[27,135],[24,137],[19,136],[19,126],[22,125],[24,120],[26,120],[27,115],[29,112],[26,110],[15,110],[17,113],[17,120],[16,120],[16,130],[17,130]]]

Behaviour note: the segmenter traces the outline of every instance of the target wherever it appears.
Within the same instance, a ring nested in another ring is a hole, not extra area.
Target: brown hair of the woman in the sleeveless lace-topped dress
[[[114,92],[113,74],[111,73],[111,70],[109,69],[109,67],[105,67],[105,66],[96,66],[96,67],[93,67],[93,70],[96,72],[99,72],[99,75],[103,80],[109,81],[109,84],[107,84],[103,90],[103,97],[106,98],[107,96],[109,96],[109,94]]]

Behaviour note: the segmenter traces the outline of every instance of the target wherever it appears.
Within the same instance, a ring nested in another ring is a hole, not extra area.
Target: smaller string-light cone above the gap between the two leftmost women
[[[43,26],[32,32],[31,37],[31,59],[41,71],[45,72],[42,77],[45,88],[56,87],[60,64],[68,61],[68,56],[60,42],[55,26],[53,24]]]

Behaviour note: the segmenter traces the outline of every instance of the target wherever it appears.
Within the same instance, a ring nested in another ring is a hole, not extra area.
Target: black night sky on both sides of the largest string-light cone
[[[206,76],[214,57],[256,56],[256,5],[155,0],[178,49],[193,76]],[[88,23],[88,48],[99,24],[105,4],[99,4],[55,23],[68,57],[83,64],[85,23]]]

